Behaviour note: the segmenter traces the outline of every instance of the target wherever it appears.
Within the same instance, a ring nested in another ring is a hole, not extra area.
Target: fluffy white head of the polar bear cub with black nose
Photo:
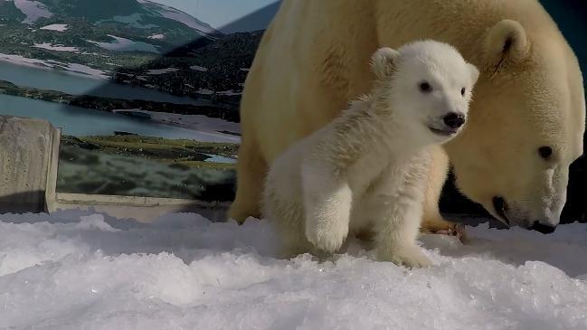
[[[464,126],[478,69],[444,42],[380,48],[371,63],[377,92],[424,143],[444,143]]]

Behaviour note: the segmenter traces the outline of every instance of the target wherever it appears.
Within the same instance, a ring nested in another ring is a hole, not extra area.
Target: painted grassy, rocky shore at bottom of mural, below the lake
[[[62,137],[57,190],[230,202],[238,145],[119,134]]]

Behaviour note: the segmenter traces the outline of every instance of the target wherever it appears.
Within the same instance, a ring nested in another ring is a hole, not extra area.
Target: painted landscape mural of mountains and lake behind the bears
[[[587,65],[583,0],[541,0]],[[0,0],[0,114],[63,132],[58,192],[231,201],[239,101],[275,0]],[[585,159],[566,217],[585,219]],[[452,181],[445,212],[482,212]]]

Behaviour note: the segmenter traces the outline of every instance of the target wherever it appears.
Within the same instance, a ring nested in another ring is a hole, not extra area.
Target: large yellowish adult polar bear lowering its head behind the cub
[[[536,0],[284,0],[245,83],[229,216],[259,216],[268,164],[368,90],[378,47],[418,39],[454,45],[481,71],[467,127],[434,152],[422,229],[450,229],[438,210],[448,155],[460,191],[497,219],[554,231],[585,99],[578,61]]]

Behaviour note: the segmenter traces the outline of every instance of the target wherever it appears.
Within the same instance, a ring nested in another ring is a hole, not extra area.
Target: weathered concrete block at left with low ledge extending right
[[[230,203],[57,193],[61,130],[43,119],[0,116],[0,213],[95,210],[150,222],[166,213],[197,212],[225,220]]]

